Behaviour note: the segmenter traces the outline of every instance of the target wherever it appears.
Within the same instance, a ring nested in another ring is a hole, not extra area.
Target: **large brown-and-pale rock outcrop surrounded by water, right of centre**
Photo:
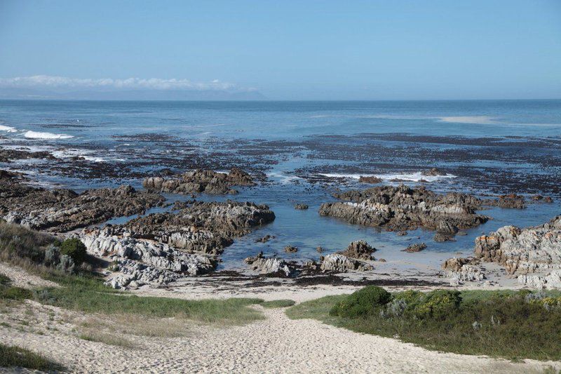
[[[384,186],[335,194],[342,202],[323,203],[320,215],[389,231],[431,229],[452,237],[458,229],[487,221],[475,209],[482,201],[468,194],[435,194],[424,187]]]

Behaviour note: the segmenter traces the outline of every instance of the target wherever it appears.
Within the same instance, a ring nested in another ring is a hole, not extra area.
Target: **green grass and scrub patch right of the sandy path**
[[[446,352],[506,359],[561,359],[559,293],[539,296],[515,291],[396,293],[382,307],[346,317],[347,295],[327,296],[287,309],[292,319],[318,319],[360,333],[400,340]],[[343,316],[342,316],[343,315]]]

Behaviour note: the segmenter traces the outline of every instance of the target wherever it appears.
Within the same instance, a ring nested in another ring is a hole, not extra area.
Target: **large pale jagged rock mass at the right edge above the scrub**
[[[509,274],[561,269],[561,216],[536,227],[504,226],[475,239],[475,255]]]

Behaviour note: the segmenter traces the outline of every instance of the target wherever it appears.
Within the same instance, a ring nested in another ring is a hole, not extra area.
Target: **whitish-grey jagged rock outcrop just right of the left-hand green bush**
[[[108,283],[114,288],[146,283],[168,283],[178,276],[198,276],[215,269],[216,260],[207,255],[177,251],[168,244],[148,239],[136,239],[119,227],[84,229],[79,238],[88,253],[114,261],[119,274]]]

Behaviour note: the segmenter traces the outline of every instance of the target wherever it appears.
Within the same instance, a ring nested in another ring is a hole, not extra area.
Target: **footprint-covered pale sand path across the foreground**
[[[76,373],[540,373],[547,366],[427,351],[318,321],[290,320],[283,309],[264,313],[265,320],[246,326],[194,326],[182,338],[136,337],[137,349],[4,327],[0,335]]]

